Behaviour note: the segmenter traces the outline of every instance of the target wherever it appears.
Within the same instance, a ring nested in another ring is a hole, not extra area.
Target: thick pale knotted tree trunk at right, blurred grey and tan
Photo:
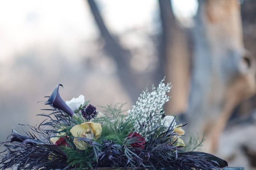
[[[190,130],[205,133],[214,152],[234,107],[255,93],[256,61],[243,47],[238,1],[199,0],[194,39]]]

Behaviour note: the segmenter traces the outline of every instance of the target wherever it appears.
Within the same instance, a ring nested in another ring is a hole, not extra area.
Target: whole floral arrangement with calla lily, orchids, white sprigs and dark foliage
[[[184,143],[186,123],[165,116],[171,85],[164,79],[152,92],[146,88],[128,111],[123,104],[101,107],[103,113],[80,95],[64,102],[58,84],[45,101],[49,114],[37,126],[21,125],[6,142],[0,169],[221,169],[227,162],[195,152],[201,142]],[[62,86],[63,87],[63,86]]]

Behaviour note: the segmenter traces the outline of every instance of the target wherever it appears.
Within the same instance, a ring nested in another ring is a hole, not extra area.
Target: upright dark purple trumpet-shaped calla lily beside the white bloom
[[[72,111],[72,109],[70,109],[70,107],[68,107],[68,105],[59,95],[59,86],[63,87],[62,84],[58,84],[45,104],[49,104],[54,108],[61,109],[63,112],[67,113],[70,117],[73,117],[75,113]]]

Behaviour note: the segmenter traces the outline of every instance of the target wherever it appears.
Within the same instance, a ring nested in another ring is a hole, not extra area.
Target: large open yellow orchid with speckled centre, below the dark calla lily
[[[77,140],[77,137],[97,139],[100,136],[101,131],[101,124],[94,122],[84,122],[80,125],[75,125],[72,129],[70,129],[71,134],[75,137],[74,144],[80,150],[85,150],[86,144],[83,140]]]

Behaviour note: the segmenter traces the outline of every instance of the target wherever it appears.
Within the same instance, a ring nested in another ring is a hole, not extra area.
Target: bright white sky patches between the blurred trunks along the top
[[[145,32],[154,31],[154,19],[159,17],[158,1],[96,2],[110,31],[122,34],[141,27],[146,28]],[[196,14],[196,0],[172,0],[172,3],[175,15],[181,18]],[[72,54],[81,41],[92,41],[97,33],[86,1],[0,0],[0,62],[11,62],[13,56],[27,48],[49,44],[57,44]]]

